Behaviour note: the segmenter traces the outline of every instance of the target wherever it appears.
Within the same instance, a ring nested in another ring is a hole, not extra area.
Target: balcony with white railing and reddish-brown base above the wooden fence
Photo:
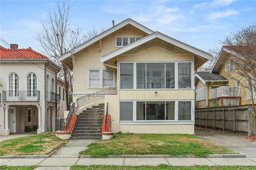
[[[241,105],[240,87],[221,86],[211,89],[209,107]]]

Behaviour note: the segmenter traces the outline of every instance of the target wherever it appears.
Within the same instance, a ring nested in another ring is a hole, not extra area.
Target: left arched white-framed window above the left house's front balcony
[[[12,73],[8,79],[9,97],[18,97],[20,90],[20,79],[16,73]]]

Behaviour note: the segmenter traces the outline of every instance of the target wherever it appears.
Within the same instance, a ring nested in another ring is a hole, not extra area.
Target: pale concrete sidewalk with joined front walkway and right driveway
[[[236,155],[209,155],[204,158],[192,156],[169,156],[169,155],[119,155],[107,158],[91,158],[90,156],[79,156],[79,152],[93,140],[70,140],[66,146],[57,150],[50,157],[41,155],[33,156],[10,156],[0,157],[0,165],[40,166],[36,170],[69,170],[72,165],[151,165],[167,164],[170,166],[194,166],[194,165],[254,165],[256,166],[256,142],[244,139],[241,136],[220,134],[216,132],[196,130],[199,138],[222,144],[241,154]],[[12,136],[12,135],[9,135]],[[2,137],[2,136],[0,136]]]

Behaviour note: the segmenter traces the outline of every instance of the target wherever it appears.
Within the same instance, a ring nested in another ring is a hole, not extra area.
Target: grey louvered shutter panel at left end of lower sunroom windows
[[[120,102],[120,121],[133,121],[133,102]]]

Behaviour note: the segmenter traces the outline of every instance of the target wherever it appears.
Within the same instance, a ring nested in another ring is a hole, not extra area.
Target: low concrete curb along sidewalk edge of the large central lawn
[[[80,158],[100,158],[81,155]],[[107,155],[106,158],[200,158],[194,155]],[[210,154],[202,158],[246,158],[246,154]]]

